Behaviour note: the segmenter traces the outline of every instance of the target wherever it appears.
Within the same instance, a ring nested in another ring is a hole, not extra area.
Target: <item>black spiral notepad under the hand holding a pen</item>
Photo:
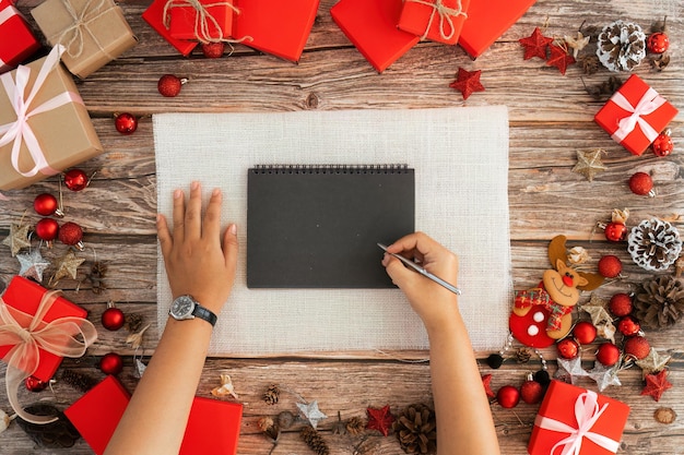
[[[248,172],[249,288],[393,287],[377,243],[414,231],[413,169],[258,166]]]

